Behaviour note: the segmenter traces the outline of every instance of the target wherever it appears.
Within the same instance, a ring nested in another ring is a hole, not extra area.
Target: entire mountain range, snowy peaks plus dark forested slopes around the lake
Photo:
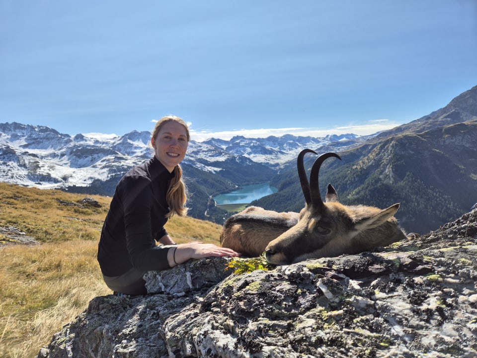
[[[121,176],[152,156],[150,132],[75,136],[46,126],[0,123],[0,181],[112,195]],[[296,171],[303,148],[337,152],[320,172],[344,204],[401,203],[404,229],[427,232],[477,202],[477,86],[447,106],[375,135],[191,141],[182,162],[189,215],[222,223],[229,216],[212,197],[241,185],[270,182],[278,192],[252,204],[277,211],[304,205]],[[307,156],[307,168],[313,157]]]

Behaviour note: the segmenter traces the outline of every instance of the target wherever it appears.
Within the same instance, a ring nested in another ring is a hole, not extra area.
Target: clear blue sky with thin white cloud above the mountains
[[[371,134],[477,85],[475,0],[2,0],[0,122]]]

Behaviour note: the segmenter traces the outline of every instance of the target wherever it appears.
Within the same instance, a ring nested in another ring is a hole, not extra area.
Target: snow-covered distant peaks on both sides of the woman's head
[[[341,146],[343,140],[354,145],[356,138],[353,134],[325,138],[285,135],[191,141],[183,164],[241,185],[247,183],[243,173],[259,172],[270,178],[303,148]],[[42,188],[85,187],[120,176],[149,159],[153,153],[150,140],[150,132],[72,136],[46,126],[0,123],[0,181]]]

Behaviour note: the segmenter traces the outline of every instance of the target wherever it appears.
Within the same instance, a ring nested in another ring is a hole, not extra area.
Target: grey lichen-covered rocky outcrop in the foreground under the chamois
[[[226,263],[96,297],[38,357],[477,357],[477,210],[360,255],[240,275]]]

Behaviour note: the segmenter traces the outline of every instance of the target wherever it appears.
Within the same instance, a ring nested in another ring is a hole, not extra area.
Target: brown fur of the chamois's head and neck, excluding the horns
[[[357,254],[406,239],[393,216],[398,206],[381,210],[371,206],[326,203],[325,213],[318,217],[305,207],[297,225],[268,244],[267,261],[281,265]]]

